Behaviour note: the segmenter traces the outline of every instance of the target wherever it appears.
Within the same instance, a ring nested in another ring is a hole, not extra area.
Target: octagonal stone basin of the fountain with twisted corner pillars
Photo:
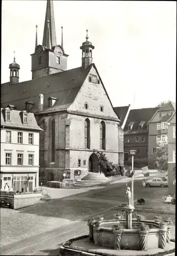
[[[134,221],[132,229],[113,229],[113,225],[121,224],[126,226],[126,220],[101,221],[99,227],[93,228],[94,244],[113,249],[124,250],[148,250],[154,248],[164,248],[166,245],[167,227],[161,229],[154,221]],[[139,231],[134,226],[144,223],[151,228],[149,231]]]

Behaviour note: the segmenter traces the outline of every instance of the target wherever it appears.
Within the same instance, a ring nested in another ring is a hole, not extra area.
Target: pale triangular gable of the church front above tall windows
[[[68,110],[119,120],[95,65],[92,66]]]

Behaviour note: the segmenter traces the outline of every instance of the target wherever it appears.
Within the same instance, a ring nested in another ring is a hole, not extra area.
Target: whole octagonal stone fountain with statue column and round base
[[[89,236],[64,243],[60,247],[61,255],[157,255],[162,251],[168,254],[173,250],[175,243],[170,240],[169,223],[164,224],[159,219],[132,219],[135,207],[131,204],[129,187],[126,189],[126,195],[128,204],[116,207],[125,212],[124,219],[119,216],[114,220],[104,220],[103,216],[99,220],[89,219]],[[130,254],[128,250],[131,250]]]

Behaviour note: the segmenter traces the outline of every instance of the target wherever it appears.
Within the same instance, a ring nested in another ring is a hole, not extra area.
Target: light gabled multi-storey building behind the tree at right
[[[167,102],[149,120],[148,166],[154,168],[156,146],[158,142],[168,141],[168,125],[166,122],[175,112],[175,103]]]

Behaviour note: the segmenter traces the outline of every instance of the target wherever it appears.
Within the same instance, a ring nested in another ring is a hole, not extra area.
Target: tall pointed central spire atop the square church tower
[[[49,25],[48,25],[49,21]],[[48,26],[50,33],[48,33]],[[48,48],[48,34],[50,34],[50,42],[51,47],[56,46],[56,32],[55,32],[55,20],[54,20],[54,8],[53,8],[53,1],[47,0],[47,8],[46,8],[46,18],[45,18],[45,26],[43,30],[43,41],[42,46]]]

